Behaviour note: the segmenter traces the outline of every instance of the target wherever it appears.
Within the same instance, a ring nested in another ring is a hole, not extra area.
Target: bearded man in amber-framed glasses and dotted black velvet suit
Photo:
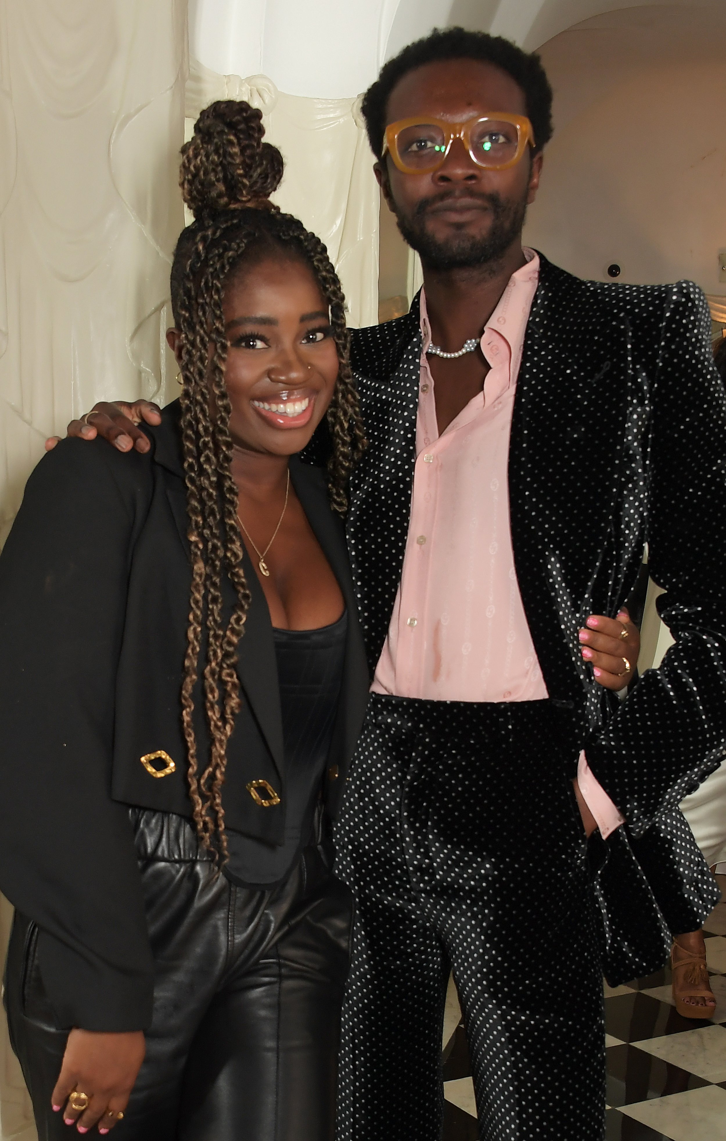
[[[537,56],[460,29],[405,48],[363,104],[424,289],[353,333],[370,447],[347,528],[374,680],[337,836],[357,901],[340,1141],[441,1136],[450,968],[481,1136],[600,1139],[602,947],[624,980],[668,939],[630,844],[651,836],[681,930],[715,901],[669,811],[726,737],[708,309],[687,282],[581,282],[523,249],[550,106]],[[94,427],[130,447],[104,407]],[[614,710],[595,681],[627,681],[628,630],[587,616],[619,613],[646,541],[676,646]],[[616,631],[622,657],[602,655]],[[599,906],[608,875],[639,941]]]

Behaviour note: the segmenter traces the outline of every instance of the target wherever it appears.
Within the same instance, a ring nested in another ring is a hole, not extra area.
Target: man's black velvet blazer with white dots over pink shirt
[[[540,258],[509,452],[515,565],[573,759],[584,745],[637,835],[725,754],[726,398],[696,285],[580,281]],[[370,448],[347,529],[371,670],[403,565],[420,355],[418,298],[353,333]],[[618,612],[645,543],[676,645],[612,711],[578,631]]]

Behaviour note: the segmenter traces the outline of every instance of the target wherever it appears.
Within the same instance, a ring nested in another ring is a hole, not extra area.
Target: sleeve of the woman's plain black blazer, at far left
[[[0,558],[0,888],[38,924],[39,965],[62,1028],[151,1021],[134,837],[128,809],[111,799],[114,687],[146,459],[105,443],[58,444],[31,475]]]

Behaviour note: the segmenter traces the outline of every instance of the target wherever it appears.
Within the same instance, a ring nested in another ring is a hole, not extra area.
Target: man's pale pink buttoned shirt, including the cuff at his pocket
[[[539,258],[511,275],[481,347],[490,371],[438,434],[426,350],[431,334],[421,290],[421,372],[416,469],[401,584],[372,690],[459,702],[530,702],[547,686],[514,566],[507,464],[524,333]],[[582,795],[604,836],[622,823],[581,754]]]

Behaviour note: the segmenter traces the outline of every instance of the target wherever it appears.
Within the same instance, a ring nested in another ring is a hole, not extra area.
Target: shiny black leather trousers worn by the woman
[[[155,961],[146,1058],[114,1141],[331,1141],[352,901],[322,847],[266,891],[215,877],[189,823],[132,810]],[[75,1132],[50,1108],[58,1029],[16,915],[6,1003],[39,1141]]]

